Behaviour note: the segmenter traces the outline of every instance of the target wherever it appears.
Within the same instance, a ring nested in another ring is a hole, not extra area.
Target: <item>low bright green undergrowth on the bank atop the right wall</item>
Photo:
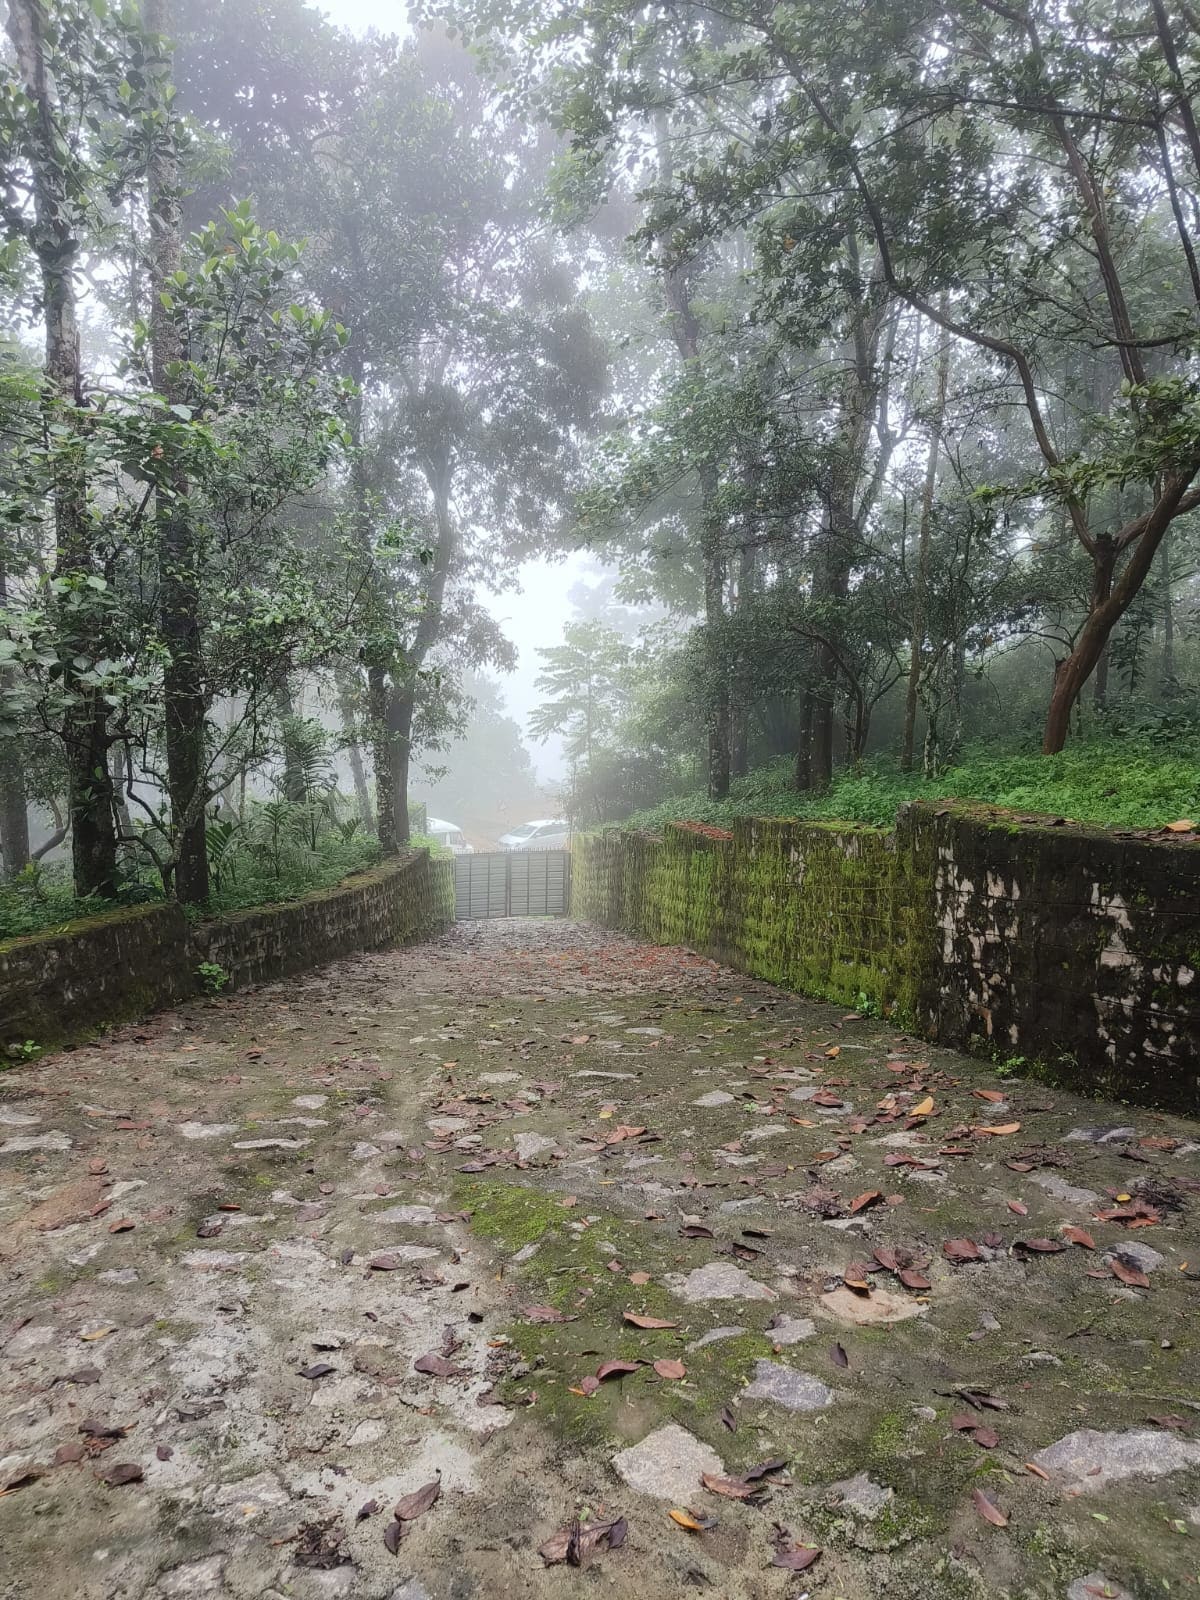
[[[728,800],[677,795],[618,824],[659,830],[666,822],[730,822],[738,816],[795,816],[886,827],[906,800],[979,800],[1072,822],[1155,829],[1179,818],[1200,821],[1200,741],[1163,749],[1150,739],[1074,744],[1061,755],[968,750],[938,778],[874,762],[840,773],[819,794],[792,787],[792,763],[774,762],[734,779]]]

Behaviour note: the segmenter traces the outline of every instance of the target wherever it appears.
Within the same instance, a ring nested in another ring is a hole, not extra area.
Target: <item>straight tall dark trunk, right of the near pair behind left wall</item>
[[[157,114],[147,170],[150,218],[150,374],[168,405],[187,398],[186,350],[179,326],[163,304],[168,280],[179,270],[182,250],[179,157],[171,107],[170,0],[142,0],[142,22],[154,35],[150,83]],[[187,906],[208,899],[205,837],[205,685],[200,638],[200,552],[187,499],[189,483],[171,470],[155,491],[158,531],[158,626],[163,669],[166,792],[176,858],[174,893]]]

